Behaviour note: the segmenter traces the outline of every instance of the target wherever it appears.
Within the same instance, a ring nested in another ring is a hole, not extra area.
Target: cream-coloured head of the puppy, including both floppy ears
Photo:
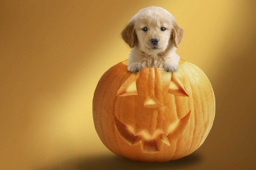
[[[173,45],[177,48],[183,36],[175,18],[161,7],[141,9],[122,31],[123,40],[147,54],[160,53]]]

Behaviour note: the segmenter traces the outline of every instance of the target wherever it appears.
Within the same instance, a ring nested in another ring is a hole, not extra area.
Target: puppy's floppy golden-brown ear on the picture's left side
[[[130,48],[133,48],[137,40],[137,35],[134,29],[134,21],[130,21],[121,34],[123,40],[129,45]]]

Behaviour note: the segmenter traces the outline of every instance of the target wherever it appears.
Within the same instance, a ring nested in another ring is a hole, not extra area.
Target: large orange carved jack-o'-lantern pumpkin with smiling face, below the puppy
[[[127,71],[128,60],[100,78],[93,96],[99,138],[116,155],[145,162],[180,159],[206,139],[215,116],[209,79],[180,60],[178,70]]]

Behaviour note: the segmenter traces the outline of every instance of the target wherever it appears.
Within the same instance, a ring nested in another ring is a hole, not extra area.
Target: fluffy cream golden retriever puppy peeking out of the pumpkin
[[[123,40],[132,48],[128,71],[142,67],[177,71],[176,49],[182,37],[183,29],[168,11],[156,6],[141,9],[122,31]]]

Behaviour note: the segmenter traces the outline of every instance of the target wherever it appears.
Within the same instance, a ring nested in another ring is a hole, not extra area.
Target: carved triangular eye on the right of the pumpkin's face
[[[180,79],[178,79],[173,73],[172,73],[172,78],[169,85],[168,93],[174,94],[177,96],[189,96],[184,85],[180,82]]]

